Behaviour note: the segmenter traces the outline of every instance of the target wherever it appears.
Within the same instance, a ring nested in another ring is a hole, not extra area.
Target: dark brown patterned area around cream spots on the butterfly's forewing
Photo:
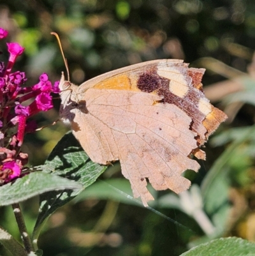
[[[219,110],[217,114],[213,112],[211,115],[208,114],[205,116],[199,109],[200,100],[205,98],[203,85],[201,84],[204,71],[205,70],[203,69],[187,68],[186,75],[191,78],[191,83],[188,84],[188,93],[182,98],[171,93],[171,80],[160,77],[157,74],[156,67],[154,68],[150,66],[149,70],[138,75],[137,80],[138,89],[146,93],[156,91],[156,93],[162,97],[161,102],[174,104],[191,117],[190,130],[197,133],[196,140],[198,146],[203,145],[208,139],[208,135],[210,135],[210,133],[212,133],[217,126],[226,119],[221,110]],[[219,120],[216,120],[217,117],[219,117]]]

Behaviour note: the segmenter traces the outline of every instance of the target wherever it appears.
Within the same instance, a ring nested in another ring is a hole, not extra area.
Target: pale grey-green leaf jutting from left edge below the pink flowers
[[[52,176],[43,172],[32,172],[13,183],[0,187],[0,206],[8,206],[35,195],[66,188],[80,190],[82,185],[63,177]]]

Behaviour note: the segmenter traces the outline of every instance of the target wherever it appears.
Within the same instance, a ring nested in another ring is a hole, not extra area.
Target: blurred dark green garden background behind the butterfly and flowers
[[[0,27],[25,47],[15,70],[26,72],[27,84],[43,72],[54,82],[65,71],[55,31],[71,82],[142,61],[184,59],[207,68],[205,92],[229,116],[207,143],[200,172],[187,171],[191,190],[180,197],[154,193],[152,207],[165,216],[122,195],[131,192],[116,179],[117,165],[101,177],[110,185],[99,181],[50,217],[39,241],[44,255],[175,256],[214,237],[255,241],[253,0],[1,0]],[[4,43],[1,61],[8,59]],[[58,118],[59,104],[36,117],[40,126]],[[58,123],[27,135],[29,165],[42,164],[67,130]],[[38,198],[22,206],[32,230]],[[0,211],[0,225],[19,237],[11,207]]]

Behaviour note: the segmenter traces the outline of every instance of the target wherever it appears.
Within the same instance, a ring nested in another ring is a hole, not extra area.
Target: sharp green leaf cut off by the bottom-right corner
[[[180,256],[254,256],[255,243],[237,237],[219,238],[196,246]]]

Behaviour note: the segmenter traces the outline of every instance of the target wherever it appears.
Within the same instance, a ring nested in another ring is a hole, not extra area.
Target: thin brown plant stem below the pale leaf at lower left
[[[24,242],[25,250],[27,251],[27,253],[33,252],[33,245],[27,233],[27,228],[25,227],[25,221],[20,209],[20,205],[12,204],[12,208],[13,208],[13,213],[15,215],[16,221],[18,223],[18,229],[20,230],[20,234]]]

